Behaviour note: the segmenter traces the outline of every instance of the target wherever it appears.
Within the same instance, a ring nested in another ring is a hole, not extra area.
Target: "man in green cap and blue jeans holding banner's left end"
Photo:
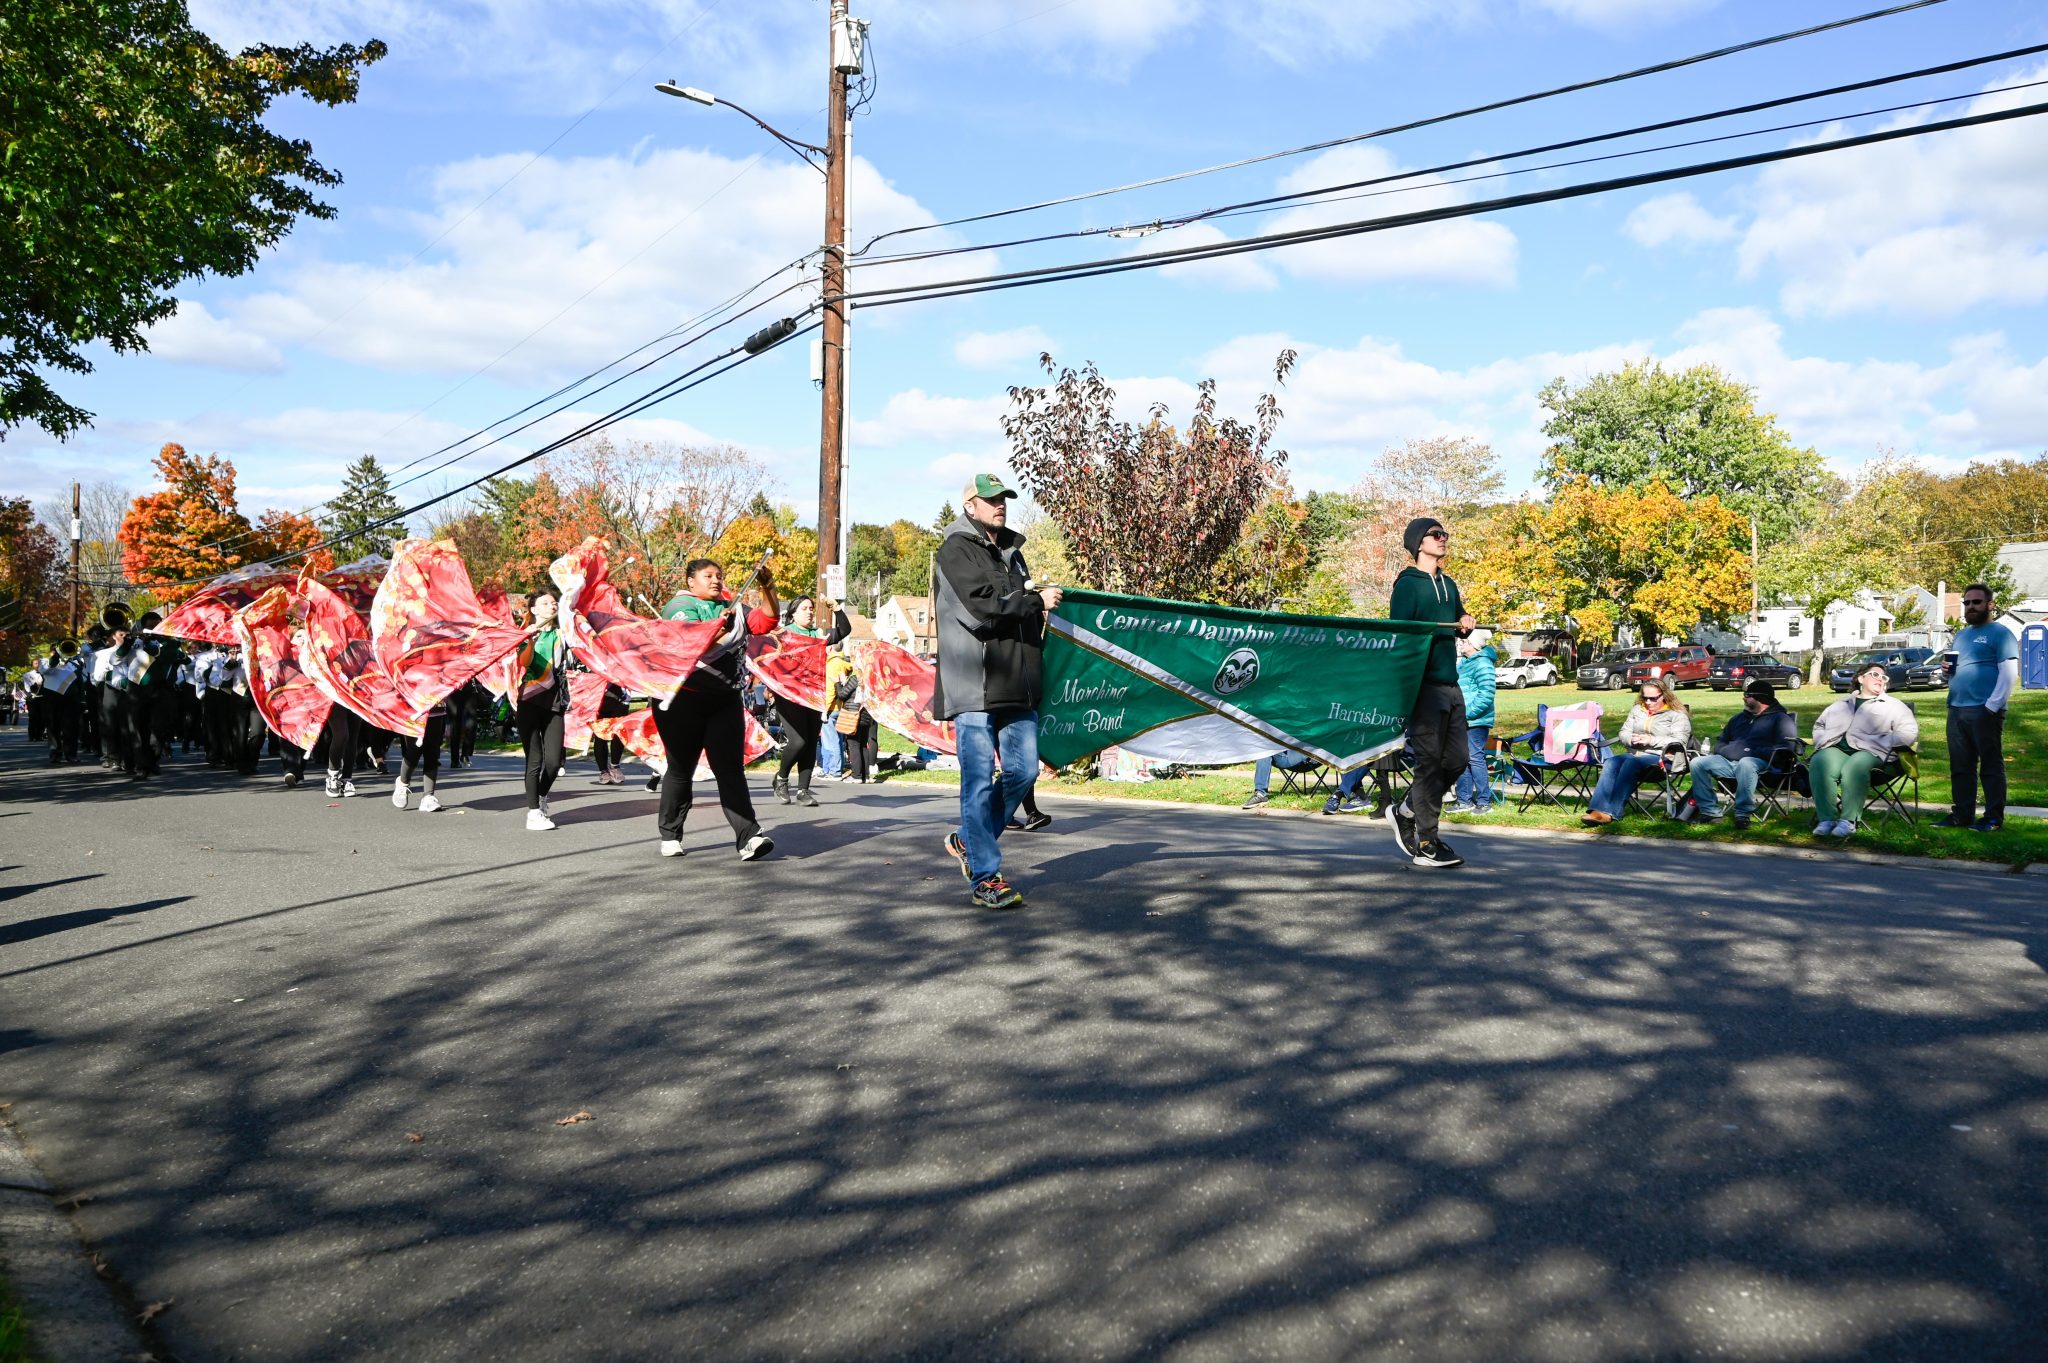
[[[932,708],[961,745],[961,827],[946,851],[981,909],[1016,909],[995,845],[1038,780],[1038,692],[1044,618],[1059,587],[1032,587],[1010,530],[1014,491],[991,473],[961,489],[961,518],[938,546],[938,686]],[[995,757],[1001,755],[1001,780]]]

